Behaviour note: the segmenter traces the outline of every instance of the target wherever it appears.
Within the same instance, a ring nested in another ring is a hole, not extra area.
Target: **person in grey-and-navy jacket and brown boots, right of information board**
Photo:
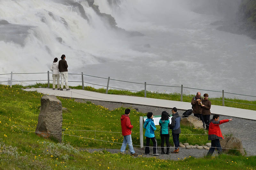
[[[177,112],[177,108],[172,108],[172,119],[170,124],[170,129],[172,129],[172,139],[175,146],[175,150],[172,153],[179,153],[180,152],[180,115]]]

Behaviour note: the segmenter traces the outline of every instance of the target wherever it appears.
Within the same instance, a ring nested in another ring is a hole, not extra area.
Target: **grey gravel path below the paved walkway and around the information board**
[[[154,115],[161,115],[162,111],[167,111],[168,113],[171,113],[170,108],[162,108],[162,107],[155,107],[155,106],[146,106],[146,105],[138,105],[138,104],[125,104],[125,103],[116,103],[116,102],[106,102],[106,101],[98,101],[98,100],[84,100],[84,99],[76,99],[77,102],[86,102],[91,101],[92,103],[96,105],[101,105],[109,110],[114,110],[115,108],[119,107],[128,107],[136,109],[142,113],[147,113],[149,111],[153,112]],[[190,108],[188,108],[190,109]],[[182,115],[185,110],[178,110],[178,113]],[[242,113],[241,113],[242,114]],[[181,116],[182,117],[182,116]],[[212,118],[212,115],[211,115]],[[239,138],[242,141],[243,147],[246,151],[246,154],[248,156],[250,155],[256,155],[256,120],[249,120],[249,119],[243,119],[243,118],[237,118],[237,117],[229,117],[229,116],[222,116],[220,115],[220,120],[223,119],[230,119],[233,118],[233,121],[230,121],[228,123],[224,123],[220,125],[220,129],[222,134],[233,134],[233,137]],[[121,147],[121,146],[120,146]],[[128,147],[127,147],[128,148]],[[142,155],[144,153],[144,149],[141,148],[134,148],[136,153],[139,153]],[[98,149],[99,150],[99,149]],[[97,149],[88,149],[89,152],[98,151]],[[111,153],[117,153],[119,152],[118,149],[107,149],[108,152]],[[159,148],[158,151],[161,153],[161,149]],[[172,148],[170,148],[170,151],[172,151]],[[171,154],[170,155],[159,155],[160,159],[183,159],[184,157],[203,157],[206,155],[208,150],[206,149],[197,149],[197,148],[180,148],[180,153],[177,154]],[[150,151],[152,153],[152,151]],[[218,153],[214,151],[213,155]],[[149,157],[148,155],[142,155],[145,157]]]

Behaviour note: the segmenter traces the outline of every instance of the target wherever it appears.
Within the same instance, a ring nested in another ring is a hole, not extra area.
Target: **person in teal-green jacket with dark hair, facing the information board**
[[[159,125],[160,125],[160,137],[161,137],[161,154],[165,154],[164,153],[164,140],[166,143],[166,154],[169,155],[170,152],[170,144],[169,144],[169,138],[170,138],[170,133],[169,133],[169,124],[170,124],[170,120],[169,117],[171,117],[169,115],[169,113],[167,113],[166,111],[162,112],[161,115],[161,119],[159,120]]]

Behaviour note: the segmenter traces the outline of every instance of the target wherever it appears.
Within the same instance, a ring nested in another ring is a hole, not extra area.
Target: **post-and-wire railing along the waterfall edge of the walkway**
[[[47,80],[24,80],[24,81],[18,81],[18,80],[14,80],[12,78],[13,74],[47,74]],[[108,94],[108,88],[113,88],[113,89],[120,89],[120,90],[128,90],[128,91],[135,91],[135,92],[143,92],[143,91],[137,91],[137,90],[131,90],[131,89],[122,89],[122,88],[116,88],[116,87],[110,87],[109,86],[109,82],[110,80],[112,81],[121,81],[121,82],[127,82],[127,83],[134,83],[134,84],[144,84],[144,97],[147,97],[147,93],[153,93],[153,94],[164,94],[164,93],[155,93],[155,92],[148,92],[147,91],[147,85],[151,85],[151,86],[162,86],[162,87],[175,87],[175,88],[180,88],[180,94],[165,94],[165,95],[174,95],[174,96],[180,96],[180,101],[183,101],[183,96],[187,96],[187,95],[183,95],[183,89],[196,89],[196,88],[190,88],[190,87],[183,87],[183,85],[181,84],[181,86],[169,86],[169,85],[158,85],[158,84],[147,84],[147,82],[144,83],[140,83],[140,82],[132,82],[132,81],[123,81],[123,80],[116,80],[116,79],[110,79],[110,77],[105,78],[105,77],[98,77],[98,76],[93,76],[93,75],[88,75],[88,74],[83,74],[83,72],[81,74],[71,74],[68,73],[69,75],[80,75],[81,76],[81,81],[69,81],[69,82],[79,82],[82,83],[82,89],[84,90],[84,83],[87,84],[92,84],[92,85],[97,85],[97,86],[102,86],[102,87],[106,87],[106,94]],[[9,77],[0,77],[0,79],[8,79],[8,81],[0,81],[0,83],[2,82],[8,82],[10,87],[12,87],[12,82],[25,82],[25,81],[47,81],[48,82],[48,88],[50,88],[50,72],[47,71],[45,73],[8,73],[8,74],[0,74],[0,75],[11,75],[10,78]],[[89,76],[89,77],[95,77],[95,78],[100,78],[100,79],[107,79],[107,86],[105,85],[100,85],[100,84],[95,84],[95,83],[91,83],[91,82],[86,82],[84,81],[84,76]],[[28,83],[26,83],[28,84]],[[32,85],[32,84],[29,84]],[[225,106],[225,102],[231,102],[231,103],[238,103],[238,104],[246,104],[246,105],[253,105],[256,106],[256,104],[249,104],[249,103],[239,103],[239,102],[233,102],[233,101],[227,101],[224,99],[224,94],[234,94],[234,95],[241,95],[241,96],[250,96],[250,97],[256,97],[256,96],[251,96],[251,95],[243,95],[243,94],[237,94],[237,93],[230,93],[230,92],[224,92],[224,90],[222,91],[215,91],[215,90],[206,90],[206,89],[196,89],[196,90],[204,90],[204,91],[212,91],[212,92],[219,92],[222,93],[222,100],[219,99],[211,99],[211,100],[216,100],[216,101],[222,101],[222,106]],[[191,97],[191,96],[188,96]],[[209,98],[210,99],[210,98]]]

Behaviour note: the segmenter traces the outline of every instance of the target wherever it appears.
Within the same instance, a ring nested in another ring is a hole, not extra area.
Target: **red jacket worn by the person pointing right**
[[[208,140],[214,140],[214,139],[223,139],[223,136],[220,131],[220,124],[226,123],[229,120],[220,120],[220,121],[215,121],[214,119],[210,120],[210,125],[209,125],[209,131],[208,131]]]

